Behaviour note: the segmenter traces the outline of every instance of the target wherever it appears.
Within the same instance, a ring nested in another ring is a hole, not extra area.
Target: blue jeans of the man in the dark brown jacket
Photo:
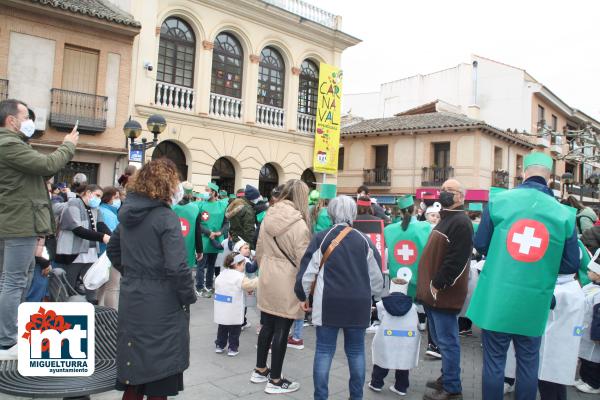
[[[458,313],[425,307],[429,331],[442,354],[442,383],[448,393],[462,393]]]

